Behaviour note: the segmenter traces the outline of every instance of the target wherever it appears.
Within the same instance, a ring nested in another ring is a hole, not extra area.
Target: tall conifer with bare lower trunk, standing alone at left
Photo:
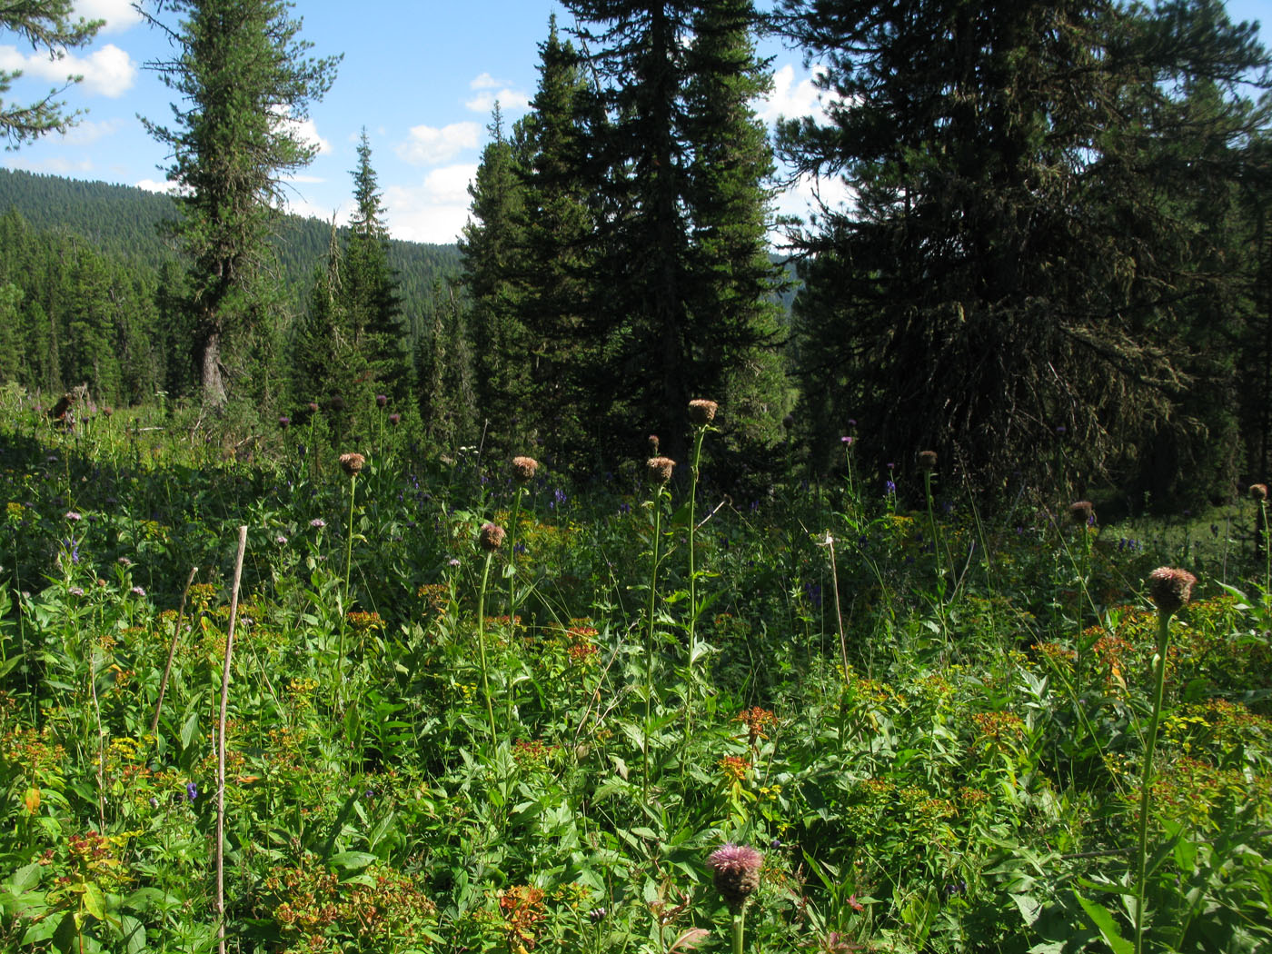
[[[296,126],[327,92],[338,57],[313,59],[281,0],[154,0],[150,22],[177,45],[153,62],[179,95],[173,125],[144,120],[173,151],[177,235],[188,262],[190,308],[204,401],[226,398],[228,349],[265,313],[261,282],[282,204],[282,176],[317,146]],[[178,20],[163,24],[164,15]]]

